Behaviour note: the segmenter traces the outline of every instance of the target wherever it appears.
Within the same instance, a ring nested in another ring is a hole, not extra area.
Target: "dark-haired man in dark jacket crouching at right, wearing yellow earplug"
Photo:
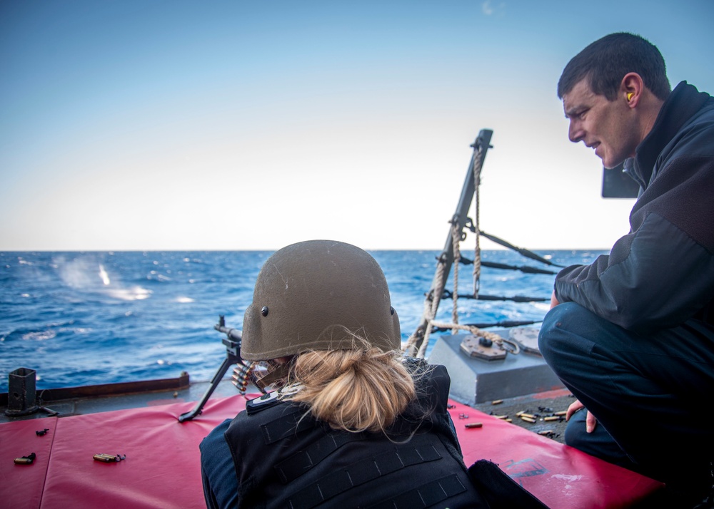
[[[633,34],[578,53],[558,97],[568,138],[640,185],[610,255],[555,278],[539,344],[578,398],[566,443],[662,480],[686,507],[713,485],[714,98],[670,91],[660,52]]]

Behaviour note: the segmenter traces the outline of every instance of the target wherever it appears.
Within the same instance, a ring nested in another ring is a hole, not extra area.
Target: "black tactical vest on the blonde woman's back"
[[[335,431],[271,396],[249,402],[226,431],[239,507],[488,508],[446,411],[446,369],[431,367],[388,435]]]

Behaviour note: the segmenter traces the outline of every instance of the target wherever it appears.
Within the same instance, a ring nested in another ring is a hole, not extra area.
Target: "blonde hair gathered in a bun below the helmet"
[[[401,351],[352,335],[353,349],[307,351],[293,360],[288,383],[301,389],[290,399],[333,429],[385,431],[416,398],[414,381]]]

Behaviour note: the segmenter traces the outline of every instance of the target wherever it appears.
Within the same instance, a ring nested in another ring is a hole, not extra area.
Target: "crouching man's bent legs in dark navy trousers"
[[[679,500],[686,507],[712,485],[713,430],[697,408],[714,391],[713,338],[711,327],[695,320],[638,334],[566,302],[545,315],[538,346],[598,419],[595,432],[602,427],[626,451],[628,468],[665,482],[688,498]],[[584,421],[584,411],[579,413]],[[576,422],[571,426],[571,445],[620,461],[607,436],[586,433]]]

